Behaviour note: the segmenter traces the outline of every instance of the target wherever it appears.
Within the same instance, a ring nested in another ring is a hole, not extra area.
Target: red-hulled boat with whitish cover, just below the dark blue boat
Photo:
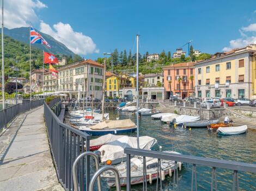
[[[98,150],[99,148],[101,148],[102,145],[116,141],[121,137],[127,137],[127,136],[107,134],[107,135],[100,136],[99,138],[90,139],[90,151]],[[84,143],[84,148],[86,149],[86,143]]]

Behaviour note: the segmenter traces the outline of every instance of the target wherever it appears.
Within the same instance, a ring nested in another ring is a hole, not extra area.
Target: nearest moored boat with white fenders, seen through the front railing
[[[175,151],[164,151],[169,152],[172,154],[179,155],[179,152]],[[158,160],[157,158],[150,158],[146,157],[146,169],[147,169],[147,181],[156,180],[157,179],[157,173],[161,173],[163,175],[162,180],[164,180],[164,177],[166,175],[170,175],[171,172],[175,169],[175,162],[174,161],[166,161],[161,160],[161,170],[158,167]],[[181,163],[179,163],[181,165]],[[115,166],[120,175],[120,184],[121,186],[126,185],[126,163],[121,163],[117,166]],[[178,168],[178,165],[176,165],[176,168]],[[112,171],[105,171],[105,173],[102,173],[101,177],[103,180],[105,180],[109,187],[115,186],[115,176]],[[160,178],[160,176],[159,176]],[[131,158],[131,184],[139,184],[143,183],[143,157],[134,157]]]

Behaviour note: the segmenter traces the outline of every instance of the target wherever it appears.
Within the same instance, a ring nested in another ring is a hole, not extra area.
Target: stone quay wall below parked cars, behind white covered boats
[[[219,119],[225,114],[224,108],[201,109],[194,107],[175,106],[174,109],[178,112],[178,114],[186,114],[188,116],[200,116],[200,118],[203,120]]]

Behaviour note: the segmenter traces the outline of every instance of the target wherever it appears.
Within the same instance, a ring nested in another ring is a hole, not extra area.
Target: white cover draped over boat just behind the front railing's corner
[[[139,137],[139,148],[150,150],[157,143],[155,138],[142,136]],[[121,137],[112,143],[102,145],[99,149],[101,152],[101,161],[106,162],[107,160],[115,160],[117,158],[126,157],[124,149],[126,147],[137,148],[137,137]]]

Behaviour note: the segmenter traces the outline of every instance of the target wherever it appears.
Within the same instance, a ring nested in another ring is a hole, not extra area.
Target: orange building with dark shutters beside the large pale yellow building
[[[184,99],[194,94],[194,62],[176,63],[163,67],[166,99],[181,95]]]

